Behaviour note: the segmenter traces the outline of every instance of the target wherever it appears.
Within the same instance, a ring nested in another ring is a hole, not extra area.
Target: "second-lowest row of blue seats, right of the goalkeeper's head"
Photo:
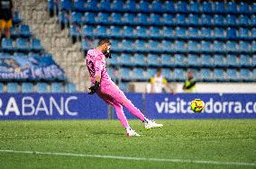
[[[114,67],[256,67],[256,55],[208,54],[113,54],[107,62]]]

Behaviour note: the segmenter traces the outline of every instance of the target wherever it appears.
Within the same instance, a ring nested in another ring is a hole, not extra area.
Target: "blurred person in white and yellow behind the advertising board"
[[[166,93],[167,89],[174,93],[174,89],[168,84],[166,78],[161,75],[161,68],[158,68],[156,75],[151,77],[151,85],[147,86],[147,93]]]

